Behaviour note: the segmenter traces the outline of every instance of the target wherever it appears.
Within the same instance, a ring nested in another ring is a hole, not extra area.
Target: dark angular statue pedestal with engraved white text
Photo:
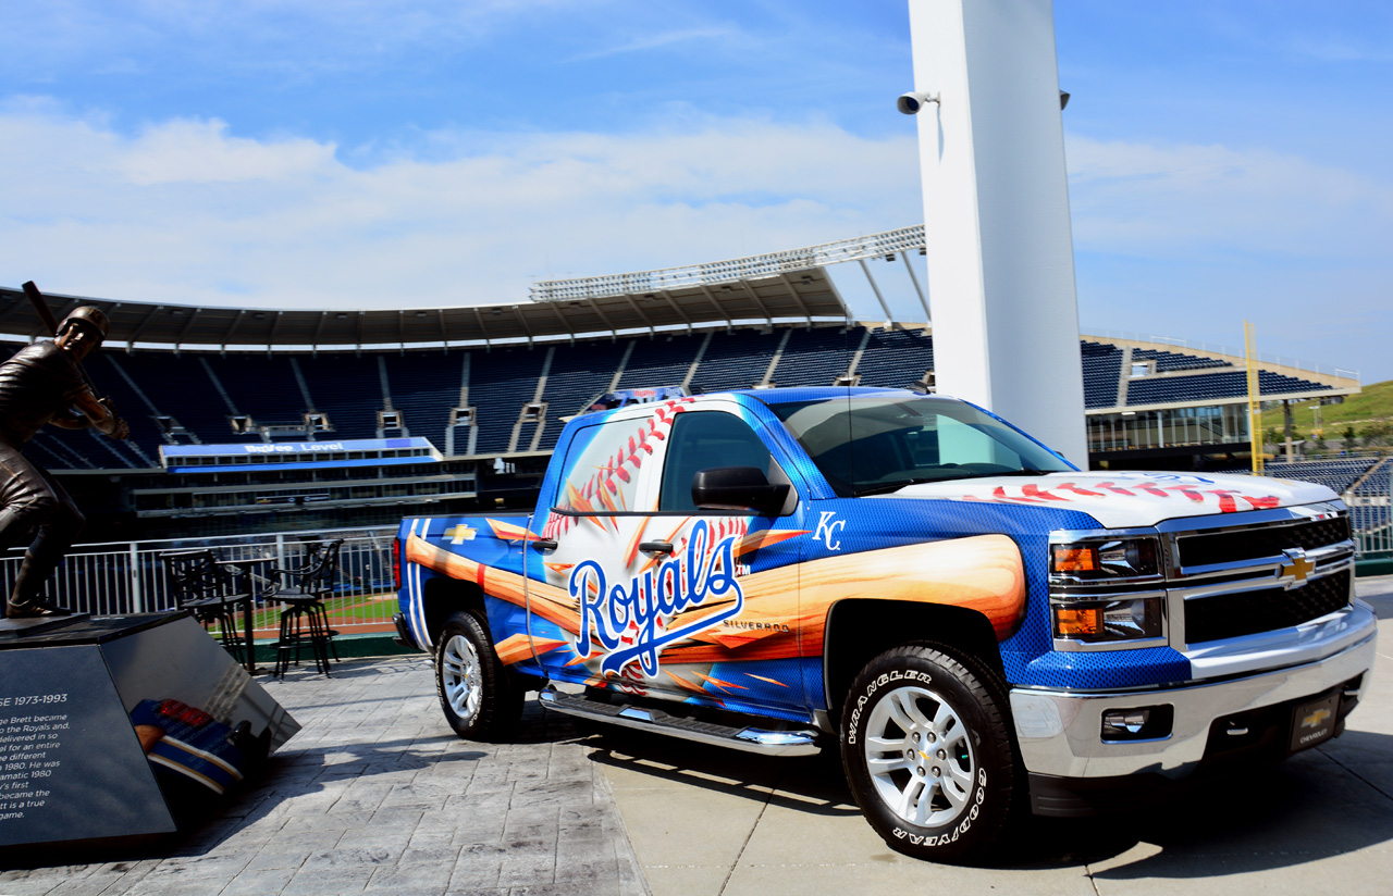
[[[299,725],[188,614],[0,621],[0,860],[196,822]]]

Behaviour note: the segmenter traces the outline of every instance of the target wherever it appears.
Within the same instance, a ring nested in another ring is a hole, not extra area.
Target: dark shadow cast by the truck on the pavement
[[[857,815],[834,751],[769,758],[627,729],[581,742],[610,768],[809,815]],[[1368,764],[1387,769],[1383,781]],[[1134,813],[1021,819],[1000,870],[1089,867],[1100,879],[1209,878],[1276,870],[1393,840],[1393,736],[1346,732],[1284,762],[1248,762],[1177,782]],[[1135,858],[1124,854],[1141,847]],[[1121,863],[1121,864],[1119,864]]]

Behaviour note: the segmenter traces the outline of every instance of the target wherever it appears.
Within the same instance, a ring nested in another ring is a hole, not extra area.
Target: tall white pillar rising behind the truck
[[[1050,0],[910,0],[940,392],[1088,466]]]

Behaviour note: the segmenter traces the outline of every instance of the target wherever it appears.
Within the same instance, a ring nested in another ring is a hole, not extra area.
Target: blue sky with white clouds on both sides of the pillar
[[[1085,333],[1393,378],[1393,6],[1056,0]],[[922,220],[904,0],[54,0],[0,32],[0,282],[244,306]]]

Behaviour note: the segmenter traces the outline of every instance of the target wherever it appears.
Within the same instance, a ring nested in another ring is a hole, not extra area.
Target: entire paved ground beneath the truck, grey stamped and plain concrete
[[[304,730],[170,857],[3,871],[0,896],[1389,893],[1393,577],[1358,590],[1385,630],[1344,736],[1135,817],[1031,819],[1002,867],[893,853],[832,757],[581,737],[536,705],[517,743],[461,742],[429,661],[398,657],[267,683]]]

